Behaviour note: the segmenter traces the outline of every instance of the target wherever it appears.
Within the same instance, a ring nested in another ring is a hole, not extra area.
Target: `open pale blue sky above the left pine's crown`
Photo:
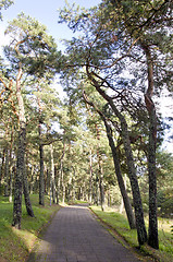
[[[101,0],[69,0],[70,4],[90,8],[97,5]],[[2,11],[3,21],[0,21],[0,45],[7,43],[4,38],[4,29],[9,21],[12,21],[24,12],[26,15],[37,19],[41,24],[46,25],[48,33],[55,39],[59,49],[63,48],[61,39],[71,38],[72,32],[65,24],[58,24],[58,9],[65,5],[65,0],[14,0],[9,9]]]

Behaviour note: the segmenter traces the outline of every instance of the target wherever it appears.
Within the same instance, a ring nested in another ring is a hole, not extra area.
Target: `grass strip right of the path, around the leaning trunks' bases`
[[[138,248],[137,233],[129,229],[127,219],[124,215],[115,213],[112,209],[102,212],[100,206],[90,207],[95,214],[107,225],[109,225],[119,236],[122,237],[132,248]],[[147,224],[147,218],[146,218]],[[159,218],[159,250],[153,250],[145,245],[140,248],[143,255],[150,255],[156,261],[172,262],[173,261],[173,236],[171,234],[171,225],[173,221]],[[121,239],[119,239],[121,241]]]

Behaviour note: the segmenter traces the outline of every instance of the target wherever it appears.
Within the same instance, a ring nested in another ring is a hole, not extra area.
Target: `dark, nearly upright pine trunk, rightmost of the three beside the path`
[[[159,249],[158,215],[157,215],[157,174],[156,174],[156,147],[157,147],[157,114],[153,95],[153,61],[149,46],[141,43],[147,57],[148,90],[145,94],[146,107],[149,115],[149,145],[148,145],[148,176],[149,176],[149,230],[148,243]]]

